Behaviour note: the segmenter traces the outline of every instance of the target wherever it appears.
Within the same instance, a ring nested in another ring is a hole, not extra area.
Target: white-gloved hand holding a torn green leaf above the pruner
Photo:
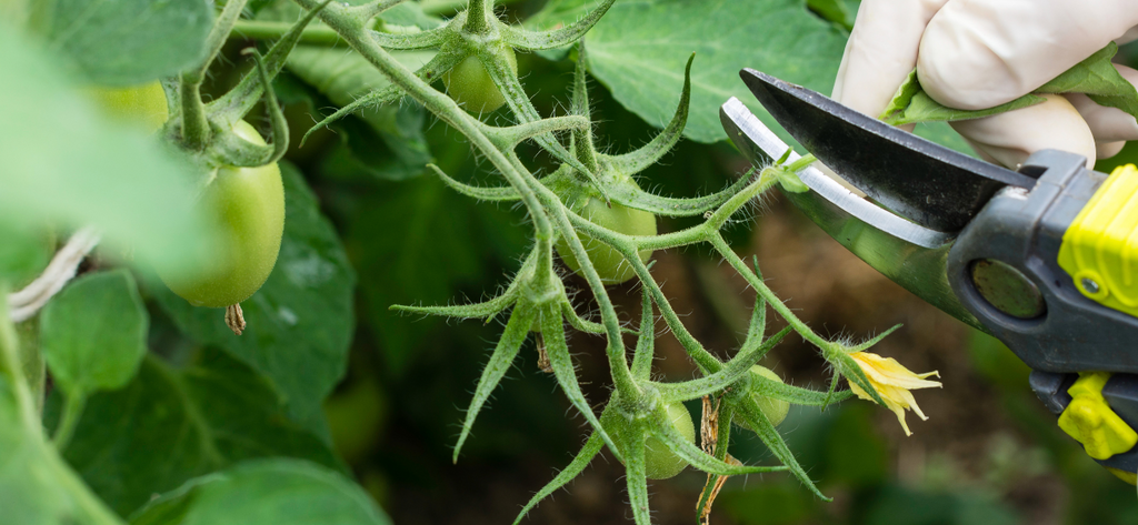
[[[984,109],[1020,98],[1100,50],[1138,39],[1135,0],[863,0],[833,99],[879,116],[913,67],[935,101]],[[1115,65],[1131,84],[1138,72]],[[1138,140],[1138,122],[1083,94],[951,123],[988,160],[1016,167],[1054,148],[1095,159]]]

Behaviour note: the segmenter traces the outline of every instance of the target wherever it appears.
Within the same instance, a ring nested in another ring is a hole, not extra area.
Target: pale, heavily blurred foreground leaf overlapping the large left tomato
[[[57,58],[19,36],[0,27],[0,220],[94,224],[176,266],[201,225],[188,166],[155,138],[106,120]]]

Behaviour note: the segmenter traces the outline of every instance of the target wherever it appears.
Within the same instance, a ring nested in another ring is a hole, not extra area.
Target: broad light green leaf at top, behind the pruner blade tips
[[[554,9],[563,3],[551,1]],[[597,2],[589,0],[592,9]],[[568,20],[567,20],[568,22]],[[726,138],[719,106],[737,97],[784,140],[790,140],[739,78],[743,67],[830,92],[846,36],[801,0],[621,0],[586,35],[589,70],[626,108],[663,127],[692,67],[691,114],[684,136]]]

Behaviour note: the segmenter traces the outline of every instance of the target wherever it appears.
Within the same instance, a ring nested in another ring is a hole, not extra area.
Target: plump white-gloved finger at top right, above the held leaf
[[[950,0],[921,39],[917,77],[945,106],[990,108],[1030,93],[1135,26],[1133,0]]]

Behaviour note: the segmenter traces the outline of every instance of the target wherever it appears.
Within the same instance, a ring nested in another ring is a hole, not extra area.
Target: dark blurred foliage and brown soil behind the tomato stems
[[[523,18],[543,3],[512,2],[505,16]],[[856,13],[856,2],[847,7]],[[248,44],[232,42],[228,51],[236,57]],[[1120,60],[1138,64],[1136,55],[1129,47]],[[518,61],[538,110],[560,111],[572,63],[536,55],[519,55]],[[313,115],[327,114],[336,102],[305,84],[296,67],[290,70],[277,89],[297,144]],[[215,89],[232,82],[233,74],[236,67],[217,72]],[[604,86],[591,86],[601,144],[624,152],[657,133]],[[489,180],[461,135],[406,105],[393,111],[385,118],[423,120],[423,149],[444,170],[460,180]],[[460,461],[452,464],[464,407],[502,323],[406,317],[388,307],[492,295],[516,270],[529,226],[520,210],[475,202],[436,177],[420,176],[419,168],[393,166],[394,153],[384,145],[389,138],[369,135],[374,132],[368,118],[351,117],[288,157],[319,194],[360,276],[349,370],[327,405],[336,445],[395,523],[512,523],[533,493],[576,453],[587,435],[584,419],[553,377],[538,369],[530,341],[479,416]],[[502,114],[490,118],[505,120]],[[372,145],[353,148],[360,143]],[[547,161],[533,149],[522,153],[536,158],[537,167]],[[1135,159],[1138,148],[1128,147],[1099,169]],[[659,193],[688,197],[723,188],[747,168],[726,142],[685,140],[661,165],[641,174],[640,182]],[[817,500],[789,475],[732,478],[711,523],[1138,523],[1133,486],[1100,468],[1058,430],[1028,388],[1029,369],[1005,347],[883,278],[777,191],[740,218],[731,226],[729,241],[740,253],[758,256],[769,285],[803,320],[825,335],[856,340],[902,324],[875,351],[915,372],[939,370],[943,389],[915,393],[929,420],[909,413],[910,438],[893,414],[866,401],[849,400],[824,413],[794,407],[780,430],[834,501]],[[660,230],[690,224],[661,218]],[[701,247],[658,252],[655,260],[653,272],[692,333],[720,357],[733,355],[753,300],[743,281]],[[587,290],[575,276],[568,284]],[[638,315],[635,286],[613,288],[611,293],[624,315]],[[578,311],[588,311],[587,292],[577,300]],[[570,341],[586,395],[596,403],[607,399],[610,388],[603,342],[579,333]],[[693,377],[694,367],[669,334],[657,348],[659,374],[676,381]],[[824,388],[828,378],[817,350],[797,336],[789,336],[764,364],[795,385]],[[696,405],[688,408],[699,415]],[[761,442],[742,435],[735,434],[732,455],[744,463],[769,463]],[[632,523],[622,476],[624,467],[602,453],[525,523]],[[650,482],[657,523],[694,523],[704,481],[704,475],[687,470]]]

